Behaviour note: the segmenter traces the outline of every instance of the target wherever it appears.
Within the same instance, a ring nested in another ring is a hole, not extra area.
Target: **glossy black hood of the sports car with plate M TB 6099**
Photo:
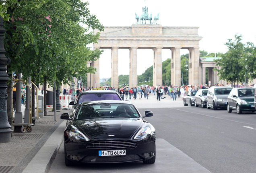
[[[76,127],[93,139],[129,139],[143,123],[139,118],[106,118],[76,121]]]

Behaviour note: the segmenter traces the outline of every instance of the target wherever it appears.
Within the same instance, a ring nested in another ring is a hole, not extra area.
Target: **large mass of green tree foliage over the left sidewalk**
[[[6,20],[6,55],[12,61],[9,73],[19,71],[23,78],[31,76],[37,83],[47,76],[50,85],[54,80],[58,85],[72,76],[93,73],[95,69],[87,67],[87,61],[99,58],[102,50],[87,47],[99,38],[99,33],[89,30],[101,31],[103,26],[87,6],[82,0],[10,0],[0,6]]]

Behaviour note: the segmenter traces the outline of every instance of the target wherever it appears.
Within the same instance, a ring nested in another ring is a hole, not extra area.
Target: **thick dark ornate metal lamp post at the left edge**
[[[6,65],[10,63],[10,59],[4,54],[6,53],[4,49],[4,21],[0,17],[0,143],[10,143],[12,129],[7,116],[7,92],[6,92],[6,82],[10,80],[6,72]]]

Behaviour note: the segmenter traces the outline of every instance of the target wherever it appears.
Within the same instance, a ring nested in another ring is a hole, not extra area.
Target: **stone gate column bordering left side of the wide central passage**
[[[130,75],[129,75],[129,86],[137,87],[137,47],[131,47],[130,50]]]

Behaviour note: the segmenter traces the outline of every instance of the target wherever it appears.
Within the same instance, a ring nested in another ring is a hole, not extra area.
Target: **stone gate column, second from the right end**
[[[180,47],[171,48],[171,84],[181,84]]]

